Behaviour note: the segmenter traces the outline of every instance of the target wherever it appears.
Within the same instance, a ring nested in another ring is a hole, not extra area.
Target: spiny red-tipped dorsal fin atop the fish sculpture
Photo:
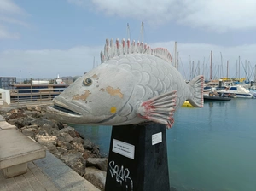
[[[165,61],[172,63],[172,55],[167,49],[163,49],[163,48],[151,49],[147,43],[143,43],[139,41],[135,43],[134,40],[131,43],[129,38],[127,39],[126,42],[125,42],[125,38],[123,38],[121,42],[119,42],[119,38],[117,38],[115,43],[113,43],[113,39],[109,41],[107,38],[106,44],[104,47],[104,52],[101,52],[101,61],[103,63],[119,55],[129,55],[129,54],[136,54],[136,53],[155,55]]]

